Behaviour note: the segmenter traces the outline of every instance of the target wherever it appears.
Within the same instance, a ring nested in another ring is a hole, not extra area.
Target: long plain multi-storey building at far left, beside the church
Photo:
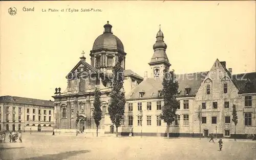
[[[0,131],[53,131],[54,102],[15,96],[0,97]]]

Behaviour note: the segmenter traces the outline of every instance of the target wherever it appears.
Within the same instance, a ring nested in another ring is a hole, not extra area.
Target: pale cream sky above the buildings
[[[82,50],[91,63],[90,50],[106,21],[124,45],[125,69],[142,77],[150,69],[159,24],[176,74],[208,71],[217,58],[233,74],[255,72],[255,1],[0,3],[1,96],[53,99],[56,87],[67,88],[65,77]],[[8,13],[10,7],[17,9],[16,15]],[[79,12],[61,12],[67,8]]]

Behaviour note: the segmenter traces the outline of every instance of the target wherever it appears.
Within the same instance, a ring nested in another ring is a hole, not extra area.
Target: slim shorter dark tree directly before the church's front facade
[[[100,90],[97,87],[95,88],[93,106],[94,106],[93,118],[96,124],[96,128],[97,128],[96,132],[98,137],[98,128],[99,128],[99,122],[101,120],[102,111],[100,109]]]

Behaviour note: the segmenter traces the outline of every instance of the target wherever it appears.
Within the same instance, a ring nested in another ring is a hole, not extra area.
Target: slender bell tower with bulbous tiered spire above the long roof
[[[169,63],[166,55],[167,45],[163,41],[163,32],[161,31],[161,24],[159,25],[159,31],[156,36],[156,43],[153,45],[154,54],[151,58],[151,62],[148,63],[151,68],[151,77],[163,76],[163,70],[165,67],[169,69],[171,64]]]

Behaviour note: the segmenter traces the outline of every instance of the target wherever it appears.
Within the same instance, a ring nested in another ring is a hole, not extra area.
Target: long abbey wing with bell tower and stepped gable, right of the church
[[[163,41],[163,33],[157,33],[157,41],[153,46],[154,54],[151,62],[150,77],[144,77],[129,95],[126,95],[125,123],[123,135],[133,128],[136,136],[166,136],[166,123],[160,119],[163,98],[159,94],[162,89],[163,69],[170,66]],[[175,121],[169,129],[169,136],[208,137],[210,133],[218,137],[232,137],[232,106],[236,105],[238,137],[255,134],[256,105],[256,73],[232,74],[226,68],[226,62],[218,59],[209,71],[177,74],[179,83],[177,100],[180,106]],[[198,115],[202,116],[201,131]]]

